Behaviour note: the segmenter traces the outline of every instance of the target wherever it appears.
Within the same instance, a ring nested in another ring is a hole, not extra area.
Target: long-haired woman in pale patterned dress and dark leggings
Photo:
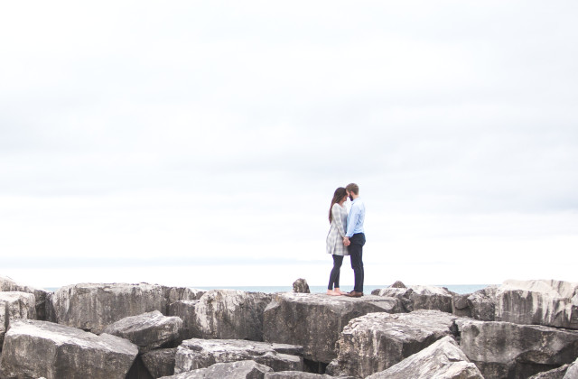
[[[333,269],[329,276],[329,286],[327,294],[331,296],[344,295],[345,292],[340,290],[340,269],[343,263],[343,256],[349,255],[347,246],[343,245],[343,236],[347,230],[347,210],[343,203],[347,200],[347,191],[340,187],[335,189],[331,208],[329,209],[329,222],[331,228],[327,235],[327,253],[333,256]]]

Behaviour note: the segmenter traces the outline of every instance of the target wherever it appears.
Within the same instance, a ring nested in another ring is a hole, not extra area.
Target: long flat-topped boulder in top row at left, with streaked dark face
[[[190,289],[148,283],[74,284],[54,292],[51,321],[98,334],[129,316],[153,310],[167,314],[171,300],[191,300],[196,295]],[[184,299],[177,299],[179,296]]]

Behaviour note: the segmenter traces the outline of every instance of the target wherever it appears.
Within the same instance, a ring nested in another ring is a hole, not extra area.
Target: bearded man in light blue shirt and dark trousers
[[[357,184],[348,184],[345,190],[353,202],[350,214],[347,217],[347,233],[343,237],[343,245],[349,245],[351,268],[355,279],[355,286],[353,291],[350,291],[349,296],[360,298],[363,296],[363,245],[365,245],[363,221],[365,220],[365,204],[359,199],[359,186]]]

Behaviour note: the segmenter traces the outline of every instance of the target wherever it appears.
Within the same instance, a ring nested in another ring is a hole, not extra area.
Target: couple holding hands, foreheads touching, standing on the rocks
[[[352,201],[349,214],[343,206],[348,197]],[[359,186],[351,183],[346,188],[335,189],[329,210],[331,229],[327,236],[327,253],[333,256],[333,269],[329,277],[329,287],[327,287],[328,295],[345,295],[354,298],[363,296],[364,219],[365,205],[359,199]],[[340,268],[345,255],[351,256],[351,268],[355,278],[355,286],[349,293],[340,290]]]

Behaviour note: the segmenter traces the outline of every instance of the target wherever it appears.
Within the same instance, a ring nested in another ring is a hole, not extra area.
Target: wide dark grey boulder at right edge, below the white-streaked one
[[[486,378],[527,378],[573,362],[578,331],[499,321],[469,321],[461,349]]]

